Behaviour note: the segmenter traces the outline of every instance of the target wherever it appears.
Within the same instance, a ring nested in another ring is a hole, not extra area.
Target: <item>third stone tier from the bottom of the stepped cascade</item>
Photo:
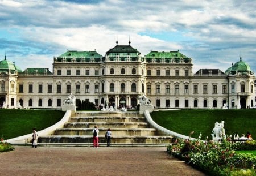
[[[146,122],[69,122],[65,128],[147,128]]]

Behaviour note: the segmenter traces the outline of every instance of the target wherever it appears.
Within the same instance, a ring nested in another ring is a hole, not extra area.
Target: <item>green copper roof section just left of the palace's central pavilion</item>
[[[58,58],[101,58],[96,51],[67,51]]]

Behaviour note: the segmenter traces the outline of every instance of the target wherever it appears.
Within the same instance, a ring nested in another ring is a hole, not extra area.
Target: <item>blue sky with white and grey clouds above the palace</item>
[[[242,55],[256,71],[254,1],[0,0],[0,60],[50,68],[67,49],[106,51],[119,45],[176,51],[200,68],[225,71]]]

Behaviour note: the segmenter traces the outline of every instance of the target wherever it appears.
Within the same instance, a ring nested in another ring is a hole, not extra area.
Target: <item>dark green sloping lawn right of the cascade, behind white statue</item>
[[[256,139],[256,110],[171,110],[153,111],[152,119],[160,126],[183,135],[192,135],[197,138],[201,132],[202,139],[206,136],[212,139],[211,133],[216,121],[225,121],[226,135],[234,135],[236,132],[241,136],[247,131],[251,132]]]

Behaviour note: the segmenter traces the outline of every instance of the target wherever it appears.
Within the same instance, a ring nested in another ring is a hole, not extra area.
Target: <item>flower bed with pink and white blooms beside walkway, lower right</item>
[[[256,156],[234,150],[255,149],[255,144],[255,141],[238,144],[225,139],[221,143],[176,139],[167,152],[209,175],[256,175]]]

